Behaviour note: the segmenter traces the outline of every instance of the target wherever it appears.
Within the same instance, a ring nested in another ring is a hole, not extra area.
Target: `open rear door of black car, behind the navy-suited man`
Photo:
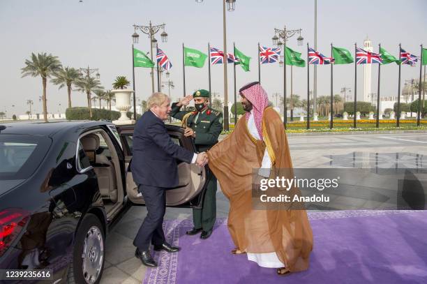
[[[138,192],[137,185],[133,181],[129,163],[132,158],[134,125],[117,126],[123,145],[126,167],[126,193],[128,200],[135,205],[144,205],[144,197]],[[166,125],[172,141],[190,151],[195,152],[195,145],[191,138],[183,135],[183,128]],[[177,160],[179,184],[176,188],[166,190],[167,207],[193,207],[201,208],[204,192],[207,186],[207,166],[199,167]]]

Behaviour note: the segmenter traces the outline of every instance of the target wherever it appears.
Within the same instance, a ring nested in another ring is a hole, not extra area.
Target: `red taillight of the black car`
[[[28,221],[29,216],[24,210],[4,209],[0,211],[0,256],[8,250]]]

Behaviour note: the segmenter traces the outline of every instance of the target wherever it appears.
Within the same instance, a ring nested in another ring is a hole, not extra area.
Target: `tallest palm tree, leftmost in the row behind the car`
[[[43,117],[47,122],[47,104],[46,104],[46,84],[47,78],[61,70],[61,62],[58,57],[45,52],[34,54],[31,53],[31,60],[25,60],[25,67],[21,69],[22,77],[42,77],[43,84]]]

